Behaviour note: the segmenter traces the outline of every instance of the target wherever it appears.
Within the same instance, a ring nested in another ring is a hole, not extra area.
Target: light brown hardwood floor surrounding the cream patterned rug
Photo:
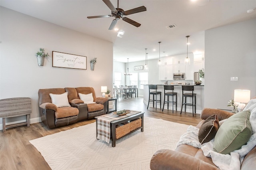
[[[117,109],[129,109],[145,112],[145,116],[164,119],[186,125],[197,125],[201,119],[200,114],[192,117],[192,113],[180,115],[179,111],[149,107],[143,103],[143,98],[118,99]],[[40,138],[56,132],[95,122],[95,119],[83,121],[67,127],[48,129],[43,123],[34,123],[30,127],[22,126],[0,131],[0,170],[50,170],[40,152],[30,144],[29,140]]]

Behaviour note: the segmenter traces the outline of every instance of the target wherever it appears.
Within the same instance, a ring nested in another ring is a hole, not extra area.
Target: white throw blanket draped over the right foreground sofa
[[[204,156],[212,158],[212,162],[218,166],[221,170],[240,170],[240,166],[244,156],[256,146],[256,99],[252,99],[246,105],[244,110],[250,110],[250,123],[252,126],[252,136],[249,141],[243,145],[240,149],[234,150],[230,154],[219,154],[213,151],[213,141],[200,144],[198,141],[199,128],[190,125],[187,132],[180,137],[177,147],[181,144],[188,144],[196,148],[201,148],[204,152]]]

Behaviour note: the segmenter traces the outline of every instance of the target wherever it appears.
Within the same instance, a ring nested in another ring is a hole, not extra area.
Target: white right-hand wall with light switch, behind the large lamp
[[[231,109],[234,89],[256,96],[256,19],[205,31],[204,107]]]

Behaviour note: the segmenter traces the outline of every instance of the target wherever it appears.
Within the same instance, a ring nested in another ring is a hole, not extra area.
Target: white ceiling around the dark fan
[[[117,0],[110,1],[117,8]],[[125,11],[139,6],[147,10],[126,16],[140,23],[138,28],[119,20],[116,27],[124,32],[119,38],[108,30],[114,17],[86,18],[111,15],[102,0],[0,0],[0,5],[113,42],[114,60],[120,62],[144,60],[145,48],[148,59],[158,58],[158,42],[161,57],[185,54],[188,35],[188,53],[204,51],[204,30],[256,18],[256,12],[246,12],[256,8],[256,0],[120,0],[119,8]],[[167,29],[171,24],[176,27]]]

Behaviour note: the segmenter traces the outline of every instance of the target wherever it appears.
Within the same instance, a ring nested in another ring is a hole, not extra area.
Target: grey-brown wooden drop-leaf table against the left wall
[[[16,97],[0,100],[0,118],[3,122],[3,132],[6,128],[27,125],[30,126],[31,99],[28,97]],[[26,122],[6,125],[5,118],[26,115]]]

